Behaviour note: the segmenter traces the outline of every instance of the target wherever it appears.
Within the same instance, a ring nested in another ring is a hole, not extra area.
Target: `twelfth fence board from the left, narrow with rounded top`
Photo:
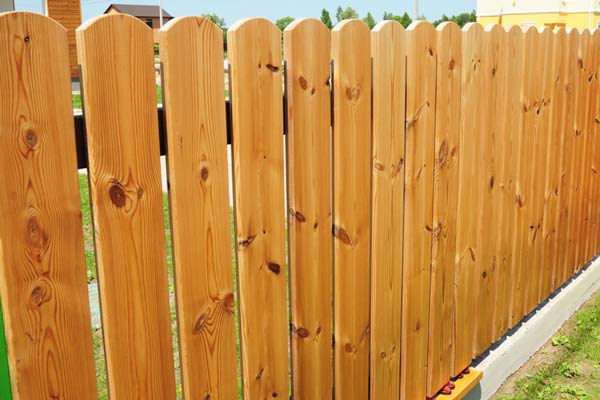
[[[494,291],[494,315],[492,317],[492,341],[498,340],[509,329],[511,285],[513,281],[513,228],[515,224],[515,174],[518,145],[519,121],[506,118],[520,112],[520,92],[523,79],[523,50],[521,28],[513,26],[505,33],[499,59],[500,74],[503,78],[502,99],[496,110],[498,125],[499,163],[495,185],[500,191],[498,207],[500,216],[497,228],[497,278]]]

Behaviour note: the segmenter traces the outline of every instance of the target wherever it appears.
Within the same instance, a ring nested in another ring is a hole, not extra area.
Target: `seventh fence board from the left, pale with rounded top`
[[[406,36],[396,21],[371,32],[373,188],[371,398],[400,396]]]

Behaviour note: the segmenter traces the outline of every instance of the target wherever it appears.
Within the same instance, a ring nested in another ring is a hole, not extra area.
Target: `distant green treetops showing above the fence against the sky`
[[[204,14],[203,17],[208,18],[209,20],[214,22],[219,28],[223,29],[223,40],[225,42],[227,42],[227,35],[225,33],[227,31],[227,24],[225,23],[225,19],[218,16],[217,14]],[[290,17],[290,16],[279,18],[277,21],[275,21],[275,25],[277,25],[277,27],[283,31],[289,24],[291,24],[294,21],[294,19],[295,19],[294,17]],[[335,19],[339,23],[346,19],[360,19],[360,15],[352,7],[342,8],[341,6],[338,6],[338,8],[336,9],[336,12],[335,12]],[[425,18],[424,16],[419,16],[418,19],[426,20],[427,18]],[[377,25],[377,21],[373,17],[373,14],[371,14],[370,12],[368,12],[367,15],[362,18],[362,20],[365,24],[367,24],[369,29],[373,29],[373,27],[375,25]],[[391,13],[391,12],[384,12],[382,20],[398,21],[405,28],[408,27],[413,22],[413,19],[410,17],[410,15],[408,15],[407,12],[405,12],[402,15],[395,15],[394,13]],[[329,13],[329,10],[327,10],[325,8],[321,11],[321,21],[329,29],[332,29],[334,27],[334,23],[331,18],[331,14]],[[469,22],[476,22],[477,16],[475,14],[475,10],[471,11],[470,13],[462,13],[462,14],[458,14],[458,15],[452,15],[450,17],[444,14],[444,15],[442,15],[442,17],[440,19],[433,21],[432,24],[434,26],[438,26],[442,22],[447,22],[447,21],[455,22],[458,26],[460,26],[462,28]]]

